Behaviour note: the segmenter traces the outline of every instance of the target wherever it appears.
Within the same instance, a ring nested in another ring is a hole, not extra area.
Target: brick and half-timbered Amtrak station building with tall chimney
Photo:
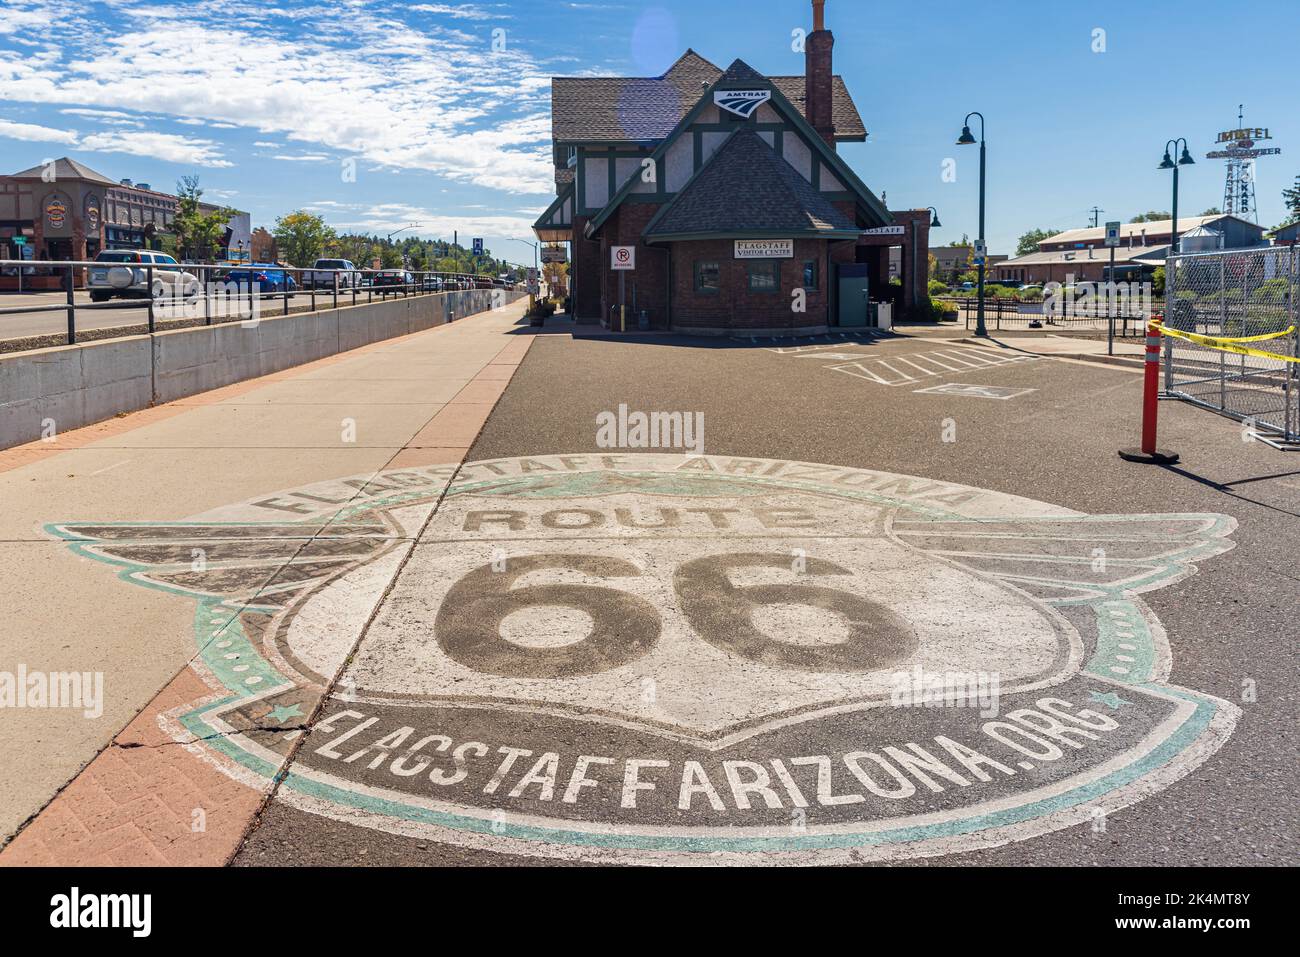
[[[618,328],[623,306],[629,329],[820,334],[924,300],[930,213],[890,212],[838,155],[867,130],[824,0],[812,17],[803,75],[688,49],[659,77],[552,81],[556,198],[534,231],[569,246],[578,321]]]

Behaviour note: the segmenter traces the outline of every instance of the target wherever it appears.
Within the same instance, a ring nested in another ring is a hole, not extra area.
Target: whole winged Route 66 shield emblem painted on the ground
[[[165,727],[295,807],[515,854],[819,863],[1096,828],[1206,761],[1238,709],[1169,683],[1141,596],[1234,528],[577,454],[49,531],[195,602],[212,693]]]

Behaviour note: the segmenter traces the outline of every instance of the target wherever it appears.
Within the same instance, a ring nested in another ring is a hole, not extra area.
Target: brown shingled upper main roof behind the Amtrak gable
[[[759,79],[770,79],[806,116],[802,75],[751,73]],[[693,49],[682,53],[662,77],[555,77],[551,79],[551,135],[560,143],[658,142],[672,133],[699,101],[701,94],[722,78],[723,70]],[[842,77],[831,81],[831,113],[836,139],[866,139],[862,116]]]

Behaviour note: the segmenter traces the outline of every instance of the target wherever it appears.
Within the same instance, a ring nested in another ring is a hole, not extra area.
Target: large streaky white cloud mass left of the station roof
[[[118,16],[95,20],[95,8],[73,0],[9,1],[20,14],[44,10],[46,34],[70,39],[39,55],[0,48],[0,99],[238,125],[386,170],[554,191],[549,78],[512,39],[493,51],[478,25],[498,17],[491,8],[421,4],[412,17],[398,5],[199,0],[178,17],[109,0]],[[212,165],[208,147],[186,148],[183,161],[203,155]],[[182,151],[172,143],[168,152]]]

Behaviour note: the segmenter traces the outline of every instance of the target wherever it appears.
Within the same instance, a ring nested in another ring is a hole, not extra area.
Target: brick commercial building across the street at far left
[[[162,248],[176,213],[174,195],[110,179],[65,156],[0,176],[0,259],[90,260],[107,248]],[[237,211],[229,248],[248,248],[250,226],[248,213]]]

